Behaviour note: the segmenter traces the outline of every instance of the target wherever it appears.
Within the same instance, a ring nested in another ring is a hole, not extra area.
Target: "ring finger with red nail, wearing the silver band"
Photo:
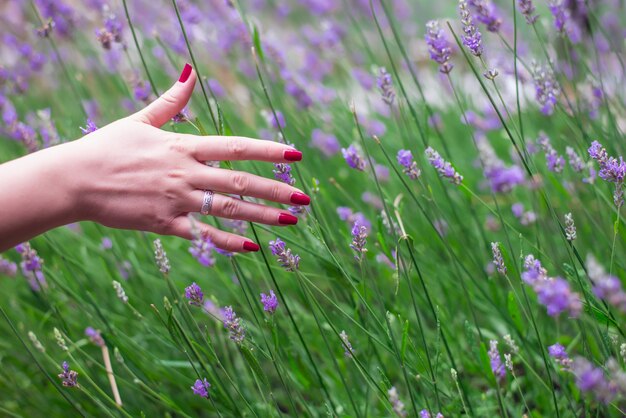
[[[183,210],[187,212],[199,212],[202,206],[204,191],[196,190],[189,195],[188,206]],[[238,198],[224,196],[216,193],[213,196],[213,204],[209,215],[227,219],[240,219],[250,222],[259,222],[267,225],[295,225],[298,218],[286,210],[246,202]]]

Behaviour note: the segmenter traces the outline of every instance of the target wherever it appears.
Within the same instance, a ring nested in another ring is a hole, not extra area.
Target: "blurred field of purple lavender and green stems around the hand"
[[[290,144],[207,164],[311,196],[288,228],[189,215],[259,252],[80,222],[0,254],[0,416],[626,416],[624,0],[0,0],[0,22],[0,163],[189,63],[163,129]]]

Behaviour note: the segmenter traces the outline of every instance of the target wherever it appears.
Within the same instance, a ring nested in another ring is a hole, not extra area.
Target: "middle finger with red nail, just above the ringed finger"
[[[251,196],[286,205],[308,205],[311,199],[301,190],[285,183],[243,171],[206,167],[199,164],[190,184],[200,190],[209,189],[219,193]]]

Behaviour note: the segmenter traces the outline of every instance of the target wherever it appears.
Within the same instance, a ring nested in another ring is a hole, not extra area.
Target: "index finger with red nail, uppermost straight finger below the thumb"
[[[293,147],[273,141],[241,136],[182,135],[198,161],[258,160],[287,163],[302,160]]]

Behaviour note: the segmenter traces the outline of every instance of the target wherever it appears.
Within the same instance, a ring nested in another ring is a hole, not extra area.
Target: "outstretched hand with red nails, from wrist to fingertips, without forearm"
[[[185,78],[185,73],[187,78]],[[302,154],[287,145],[242,137],[201,137],[158,129],[187,104],[196,74],[186,66],[181,78],[138,113],[59,147],[55,155],[74,202],[73,218],[113,228],[192,238],[190,212],[199,212],[204,190],[215,192],[210,215],[293,225],[288,211],[246,202],[250,196],[283,204],[308,204],[302,191],[275,180],[205,161],[259,160],[287,163]],[[52,149],[50,149],[52,151]],[[35,153],[39,154],[39,153]],[[67,220],[67,219],[66,219]],[[249,239],[194,222],[199,232],[227,251],[258,251]]]

